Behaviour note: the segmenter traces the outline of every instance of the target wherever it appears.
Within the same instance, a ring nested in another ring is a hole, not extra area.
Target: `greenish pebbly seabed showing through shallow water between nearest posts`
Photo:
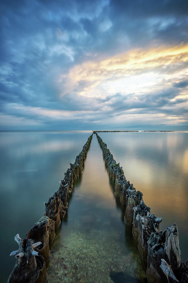
[[[85,231],[80,231],[79,227],[74,227],[67,236],[63,235],[63,245],[61,237],[56,237],[51,249],[54,251],[50,257],[51,263],[47,268],[49,283],[62,280],[84,283],[114,282],[110,278],[111,272],[123,272],[128,277],[137,277],[141,282],[144,281],[146,274],[143,269],[139,269],[142,259],[134,251],[126,250],[123,245],[119,250],[120,243],[114,241],[117,231],[114,231],[113,237],[108,237],[105,231],[95,229],[87,235]]]

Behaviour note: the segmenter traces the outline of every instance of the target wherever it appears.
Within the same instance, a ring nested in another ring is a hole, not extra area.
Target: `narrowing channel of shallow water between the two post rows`
[[[49,282],[144,282],[142,258],[113,187],[94,135],[51,248]]]

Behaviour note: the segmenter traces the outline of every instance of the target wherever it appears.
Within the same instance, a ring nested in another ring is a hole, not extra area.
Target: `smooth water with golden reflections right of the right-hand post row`
[[[182,261],[188,251],[188,133],[99,133],[127,180],[142,191],[160,225],[178,225]]]

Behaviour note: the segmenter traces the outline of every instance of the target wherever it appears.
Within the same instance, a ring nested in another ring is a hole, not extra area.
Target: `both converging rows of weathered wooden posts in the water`
[[[173,224],[160,231],[161,217],[150,214],[150,207],[143,201],[141,191],[126,180],[122,167],[113,158],[106,143],[96,134],[103,151],[105,165],[110,178],[115,181],[115,195],[125,205],[125,223],[132,226],[132,233],[138,242],[138,249],[147,265],[149,283],[188,282],[188,261],[181,262],[177,225]],[[61,224],[72,192],[73,183],[82,174],[83,164],[89,150],[93,134],[83,146],[74,164],[70,164],[58,191],[45,204],[45,213],[30,229],[24,239],[15,236],[19,248],[11,252],[16,263],[8,283],[43,283],[46,281],[46,263],[50,257],[49,244],[54,240],[55,230]]]

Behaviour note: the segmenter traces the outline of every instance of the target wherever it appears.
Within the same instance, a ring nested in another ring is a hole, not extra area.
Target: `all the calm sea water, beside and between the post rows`
[[[15,264],[14,236],[24,237],[44,214],[44,201],[58,189],[69,162],[75,161],[91,131],[0,132],[1,281]],[[127,180],[142,191],[161,229],[176,223],[182,261],[188,251],[188,133],[100,133],[123,166]],[[96,278],[98,282],[143,282],[145,269],[124,207],[94,135],[82,177],[74,186],[65,221],[51,247],[49,282]],[[97,274],[97,275],[96,275]],[[86,277],[84,277],[86,276]],[[132,281],[131,281],[132,280]],[[92,280],[90,282],[93,282]],[[97,282],[95,280],[95,282]]]

